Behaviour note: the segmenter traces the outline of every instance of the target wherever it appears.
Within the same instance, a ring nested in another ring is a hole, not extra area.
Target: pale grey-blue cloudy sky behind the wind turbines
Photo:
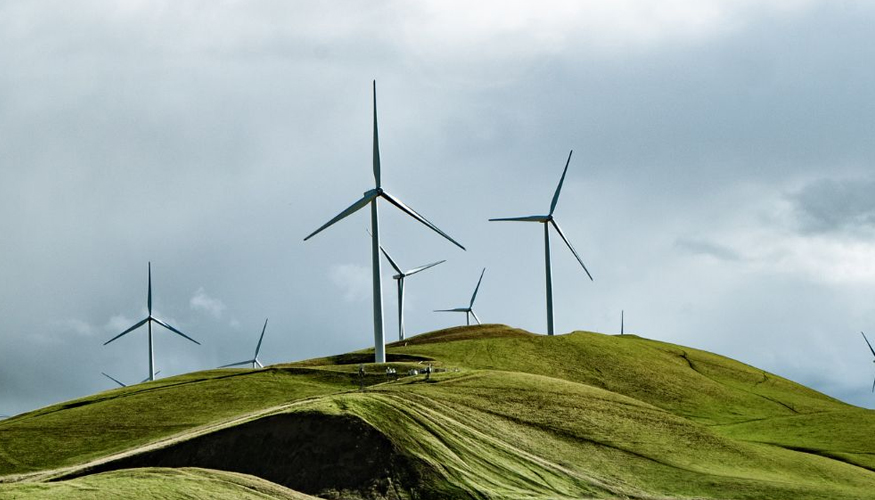
[[[875,408],[875,6],[0,0],[0,414],[373,345],[372,80],[409,335],[626,331]],[[396,298],[383,263],[386,337]],[[561,359],[556,360],[561,363]]]

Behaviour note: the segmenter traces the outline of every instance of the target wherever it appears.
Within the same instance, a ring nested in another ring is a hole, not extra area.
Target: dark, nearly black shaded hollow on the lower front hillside
[[[77,476],[137,467],[242,472],[326,499],[468,497],[447,491],[436,471],[400,453],[385,435],[349,415],[265,417],[106,463]]]

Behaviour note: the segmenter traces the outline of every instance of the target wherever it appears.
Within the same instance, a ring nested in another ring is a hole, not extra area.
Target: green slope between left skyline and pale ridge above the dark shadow
[[[113,389],[0,422],[0,476],[82,463],[351,387],[343,373],[287,368],[212,370]]]

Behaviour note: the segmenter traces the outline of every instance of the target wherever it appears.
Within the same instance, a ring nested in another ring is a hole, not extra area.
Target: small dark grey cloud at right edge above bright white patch
[[[802,233],[875,234],[875,179],[820,179],[788,195]]]

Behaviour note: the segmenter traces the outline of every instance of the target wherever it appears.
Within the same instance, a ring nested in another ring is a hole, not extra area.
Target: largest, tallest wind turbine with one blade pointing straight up
[[[346,210],[338,214],[336,217],[326,222],[322,227],[313,231],[309,236],[304,238],[304,241],[309,240],[313,236],[319,234],[322,230],[331,226],[335,222],[346,218],[347,216],[357,212],[366,205],[371,205],[371,269],[374,287],[374,362],[386,362],[386,337],[383,331],[383,287],[380,283],[380,223],[379,213],[377,211],[377,200],[383,198],[392,205],[395,205],[399,210],[406,213],[410,217],[425,224],[429,229],[450,240],[454,245],[462,250],[465,249],[456,240],[450,238],[446,233],[438,229],[437,226],[429,222],[425,217],[417,213],[412,208],[408,207],[383,189],[383,184],[380,180],[380,141],[377,134],[377,82],[374,81],[374,189],[365,191],[364,196]]]

